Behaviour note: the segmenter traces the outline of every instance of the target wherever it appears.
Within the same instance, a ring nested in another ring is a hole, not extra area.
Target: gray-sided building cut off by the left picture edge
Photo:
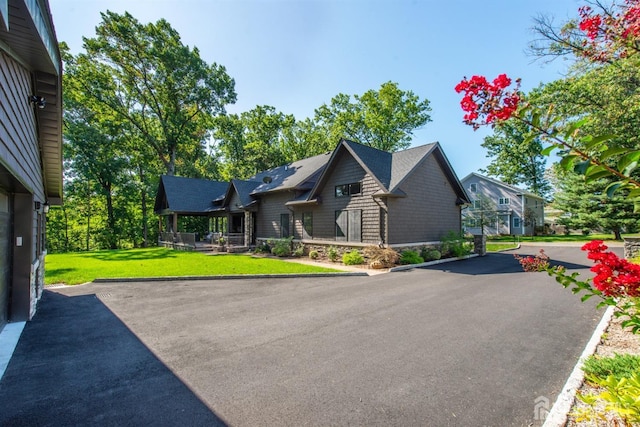
[[[46,0],[0,0],[0,330],[29,320],[62,202],[62,63]]]

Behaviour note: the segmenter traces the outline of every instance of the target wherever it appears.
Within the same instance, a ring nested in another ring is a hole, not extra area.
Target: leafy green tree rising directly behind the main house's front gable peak
[[[428,100],[397,83],[387,82],[379,90],[362,95],[338,94],[329,105],[315,111],[314,121],[324,127],[333,144],[351,139],[384,151],[398,151],[411,145],[413,132],[431,121]]]

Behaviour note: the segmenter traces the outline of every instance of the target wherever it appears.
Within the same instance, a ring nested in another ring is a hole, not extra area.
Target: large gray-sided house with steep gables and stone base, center
[[[227,185],[224,197],[207,193],[200,212],[225,217],[221,231],[245,246],[284,237],[353,247],[434,243],[461,230],[469,203],[438,143],[388,153],[342,140],[333,152]],[[171,206],[161,186],[156,212],[172,214]]]

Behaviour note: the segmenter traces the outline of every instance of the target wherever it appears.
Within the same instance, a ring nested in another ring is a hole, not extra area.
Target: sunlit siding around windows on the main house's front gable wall
[[[335,159],[333,169],[328,172],[329,177],[320,193],[321,204],[296,209],[296,237],[301,235],[302,212],[313,213],[314,240],[336,240],[335,212],[339,210],[354,210],[360,211],[362,218],[360,242],[377,244],[380,241],[380,206],[371,195],[380,190],[378,184],[348,154]],[[355,182],[362,183],[361,195],[335,196],[336,185]],[[348,233],[345,234],[348,235]]]

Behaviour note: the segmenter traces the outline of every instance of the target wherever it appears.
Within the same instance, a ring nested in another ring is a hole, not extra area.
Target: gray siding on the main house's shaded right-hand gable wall
[[[458,196],[433,156],[400,185],[407,197],[389,199],[390,244],[440,240],[460,231]]]

